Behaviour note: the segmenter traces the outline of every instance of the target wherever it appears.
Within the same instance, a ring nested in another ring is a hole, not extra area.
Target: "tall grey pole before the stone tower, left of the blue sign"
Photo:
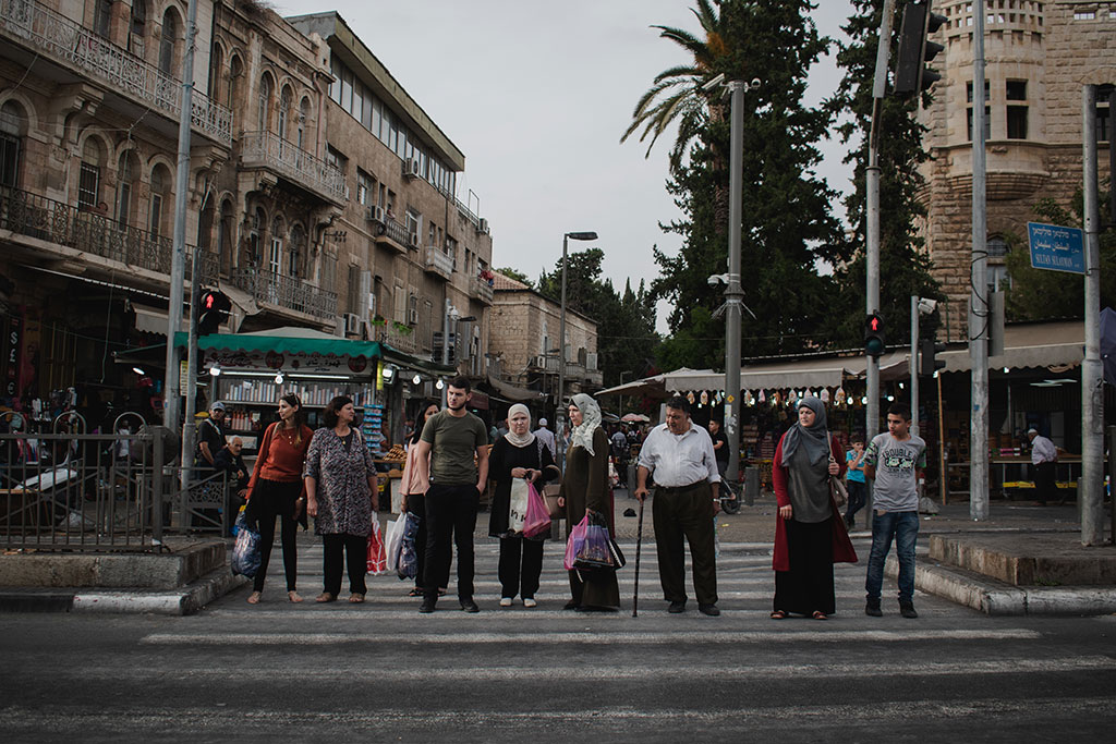
[[[978,522],[988,506],[988,214],[984,148],[984,0],[973,0],[973,251],[969,297],[969,360],[972,418],[969,427],[969,515]]]

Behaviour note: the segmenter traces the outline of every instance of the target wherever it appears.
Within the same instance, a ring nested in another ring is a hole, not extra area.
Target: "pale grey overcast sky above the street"
[[[561,258],[561,238],[595,231],[605,274],[623,291],[657,276],[652,247],[677,252],[660,222],[679,216],[666,193],[664,135],[619,144],[655,75],[687,61],[652,25],[700,30],[691,0],[279,0],[283,16],[336,10],[465,154],[458,196],[471,190],[492,229],[492,263],[532,279]],[[815,21],[843,38],[847,0],[822,0]],[[810,70],[809,103],[829,95],[831,58]],[[843,147],[824,144],[819,175],[848,191]],[[836,210],[844,216],[843,207]],[[571,243],[570,251],[586,243]],[[665,312],[660,308],[660,329]]]

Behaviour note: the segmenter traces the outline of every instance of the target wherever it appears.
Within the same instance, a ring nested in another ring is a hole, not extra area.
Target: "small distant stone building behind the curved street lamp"
[[[496,274],[491,355],[504,381],[554,396],[558,390],[561,306],[537,290]],[[566,395],[593,393],[604,381],[597,364],[597,322],[566,310]],[[551,403],[554,399],[551,398]]]

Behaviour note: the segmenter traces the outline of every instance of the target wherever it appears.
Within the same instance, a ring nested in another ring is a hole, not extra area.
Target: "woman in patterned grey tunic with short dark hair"
[[[319,602],[333,602],[341,591],[341,567],[348,566],[349,601],[368,593],[368,535],[376,519],[378,481],[372,452],[353,426],[353,399],[338,395],[323,412],[325,426],[314,433],[306,454],[307,510],[314,532],[321,535],[325,574]]]

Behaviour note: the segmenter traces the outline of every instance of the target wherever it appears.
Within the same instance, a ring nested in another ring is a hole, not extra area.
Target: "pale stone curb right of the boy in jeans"
[[[898,560],[884,572],[898,576]],[[1016,587],[958,568],[915,564],[915,588],[989,616],[1109,615],[1116,612],[1114,587]]]

